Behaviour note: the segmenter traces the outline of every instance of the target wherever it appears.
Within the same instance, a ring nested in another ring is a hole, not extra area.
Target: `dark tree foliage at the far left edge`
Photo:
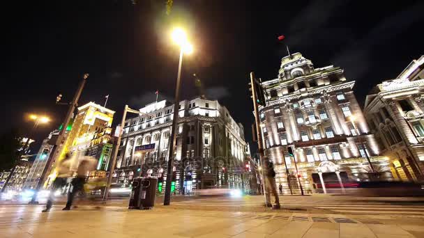
[[[0,171],[10,170],[18,161],[20,140],[17,129],[10,129],[0,135]]]

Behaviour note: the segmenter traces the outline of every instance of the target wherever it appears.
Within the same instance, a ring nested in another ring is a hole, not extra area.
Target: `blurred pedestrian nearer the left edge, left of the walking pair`
[[[56,166],[56,179],[52,184],[52,189],[50,189],[49,198],[47,198],[47,204],[45,209],[42,212],[50,212],[54,201],[54,193],[56,190],[61,189],[63,185],[66,185],[66,180],[72,174],[70,171],[70,154],[66,153],[65,157],[59,161]]]

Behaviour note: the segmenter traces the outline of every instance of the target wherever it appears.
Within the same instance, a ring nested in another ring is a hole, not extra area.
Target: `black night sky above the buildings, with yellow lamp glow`
[[[156,100],[156,90],[160,99],[173,98],[179,49],[169,38],[172,26],[185,26],[195,45],[183,61],[182,98],[199,95],[196,73],[206,95],[243,123],[248,141],[249,72],[264,80],[277,76],[287,55],[278,35],[315,68],[344,68],[356,80],[361,104],[372,86],[424,53],[424,3],[418,1],[174,0],[169,15],[165,0],[13,2],[0,10],[0,131],[27,133],[26,113],[45,113],[54,120],[36,130],[38,145],[66,112],[55,105],[56,95],[71,100],[84,72],[90,77],[80,104],[103,104],[109,95],[114,125],[124,104],[139,109]]]

